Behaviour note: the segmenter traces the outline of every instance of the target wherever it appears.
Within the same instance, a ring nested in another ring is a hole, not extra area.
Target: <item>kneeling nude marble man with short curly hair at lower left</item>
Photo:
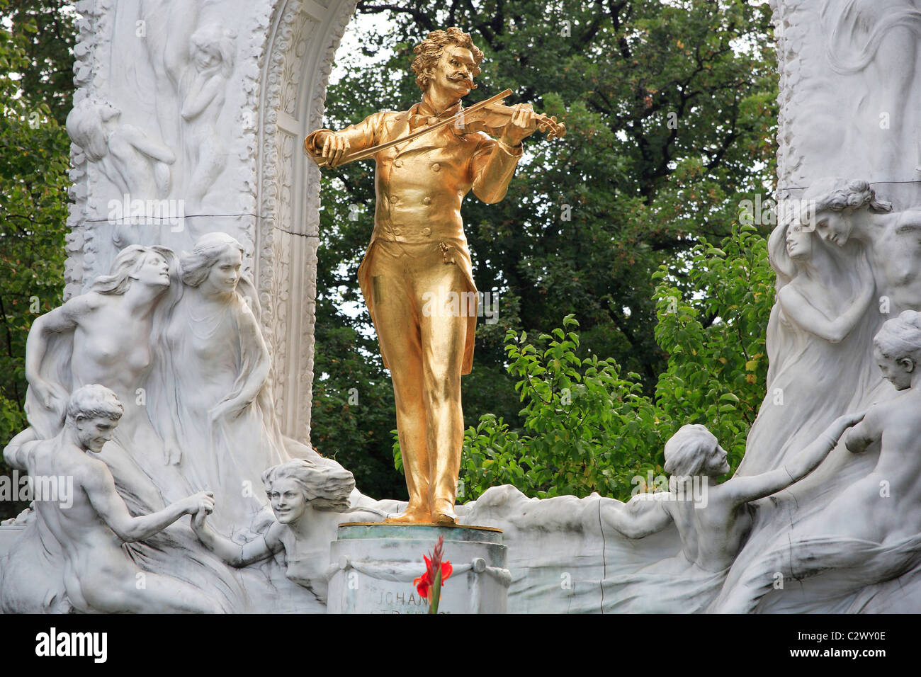
[[[143,541],[183,515],[210,512],[210,492],[188,496],[149,515],[132,517],[108,466],[91,458],[111,439],[122,417],[115,393],[89,384],[67,403],[64,429],[52,439],[33,440],[29,428],[4,449],[4,460],[33,478],[73,478],[73,504],[36,500],[38,518],[64,554],[64,589],[71,605],[85,613],[219,613],[216,602],[189,584],[141,572],[122,543]],[[26,441],[24,441],[26,440]]]

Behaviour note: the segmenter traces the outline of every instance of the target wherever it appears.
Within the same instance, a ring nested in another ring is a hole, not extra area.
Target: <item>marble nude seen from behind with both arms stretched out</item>
[[[626,585],[619,592],[624,606],[640,600],[636,611],[655,611],[649,600],[641,598],[658,591],[663,602],[659,611],[681,608],[690,613],[704,609],[717,595],[752,529],[748,504],[811,473],[834,449],[845,429],[862,418],[863,414],[841,416],[783,467],[748,477],[737,474],[723,484],[717,484],[717,477],[729,472],[729,463],[717,438],[705,426],[682,426],[665,445],[670,491],[640,494],[628,503],[614,503],[601,513],[604,525],[627,538],[644,538],[671,524],[681,537],[682,552],[677,557],[647,566],[635,575],[609,579],[613,584]],[[631,586],[643,594],[632,597]],[[676,604],[675,596],[682,599],[681,604]],[[694,599],[685,600],[686,597]]]

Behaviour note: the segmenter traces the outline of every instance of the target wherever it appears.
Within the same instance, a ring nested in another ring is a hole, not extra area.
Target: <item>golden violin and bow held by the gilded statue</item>
[[[398,144],[405,144],[408,141],[413,140],[418,136],[423,134],[428,134],[429,132],[434,132],[437,129],[441,129],[444,126],[449,124],[454,124],[458,128],[464,130],[464,132],[485,132],[490,136],[498,136],[502,134],[502,131],[505,129],[509,120],[511,120],[512,114],[515,112],[515,109],[511,106],[506,106],[500,101],[502,99],[507,99],[511,96],[512,90],[506,89],[499,92],[494,97],[480,101],[479,103],[474,103],[470,108],[463,109],[457,115],[452,115],[449,118],[445,118],[434,124],[429,124],[427,127],[416,130],[412,134],[402,136],[398,139],[393,139],[378,146],[373,146],[371,148],[366,148],[365,150],[359,150],[355,153],[345,156],[342,161],[337,165],[341,167],[346,162],[353,162],[355,160],[363,160],[370,158],[378,154],[381,150],[389,148],[391,146],[397,146]],[[531,111],[531,119],[537,121],[537,128],[547,134],[548,139],[560,139],[563,138],[566,134],[566,125],[565,123],[559,123],[556,121],[556,116],[549,117],[543,113],[538,113]],[[304,152],[309,155],[311,158],[313,156],[310,154],[309,148],[307,147],[307,139],[304,139]],[[313,158],[313,160],[320,166],[326,166],[325,158]]]

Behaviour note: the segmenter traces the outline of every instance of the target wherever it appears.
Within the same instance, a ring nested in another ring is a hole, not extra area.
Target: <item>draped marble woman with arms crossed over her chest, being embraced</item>
[[[830,250],[799,222],[768,243],[777,297],[767,332],[767,394],[752,425],[740,474],[778,468],[874,382],[866,348],[875,285],[859,247]],[[863,358],[861,358],[861,356]]]

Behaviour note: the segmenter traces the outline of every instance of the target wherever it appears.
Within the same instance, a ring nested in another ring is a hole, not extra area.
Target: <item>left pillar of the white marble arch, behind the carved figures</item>
[[[228,159],[216,181],[216,199],[210,208],[185,214],[185,234],[171,233],[160,223],[143,237],[187,250],[194,232],[225,230],[243,243],[274,356],[277,414],[286,435],[309,441],[320,172],[306,161],[301,144],[309,131],[321,126],[332,60],[356,0],[183,3],[186,0],[77,2],[81,18],[75,104],[84,99],[110,102],[122,111],[125,123],[152,137],[170,138],[175,134],[163,129],[163,111],[154,111],[159,104],[146,99],[155,88],[150,84],[155,76],[145,56],[157,49],[151,47],[157,43],[144,42],[141,47],[134,40],[157,40],[158,35],[158,40],[169,41],[183,29],[191,32],[192,21],[218,23],[233,31],[236,58],[220,118]],[[196,16],[186,22],[189,7]],[[147,24],[139,28],[138,18],[147,17]],[[134,34],[140,32],[145,35]],[[169,84],[160,77],[160,84]],[[172,114],[168,107],[167,119]],[[181,125],[178,110],[175,116]],[[174,150],[181,158],[183,148]],[[71,146],[71,159],[65,299],[86,291],[121,249],[106,226],[111,224],[111,211],[107,214],[106,209],[120,197],[119,191],[79,146]],[[179,190],[181,185],[174,187],[171,196]]]

